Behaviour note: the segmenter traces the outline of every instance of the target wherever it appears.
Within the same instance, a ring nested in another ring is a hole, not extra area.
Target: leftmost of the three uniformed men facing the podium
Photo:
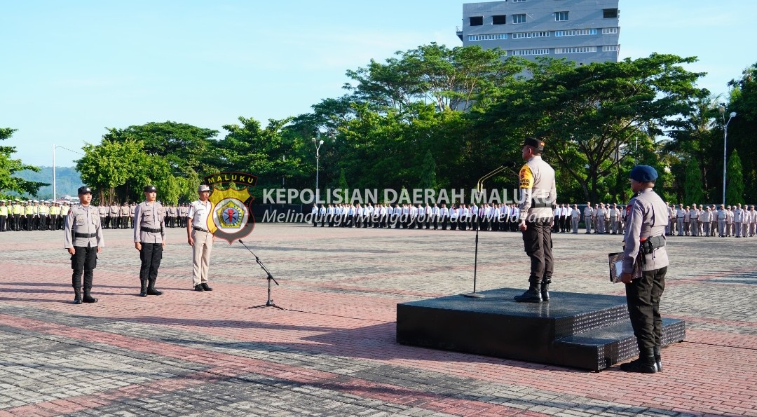
[[[104,240],[97,207],[90,206],[92,190],[86,185],[79,187],[79,204],[71,207],[66,216],[64,247],[71,255],[71,285],[73,303],[97,303],[92,297],[92,275],[97,266],[97,254],[102,251]],[[82,297],[82,274],[84,297]]]

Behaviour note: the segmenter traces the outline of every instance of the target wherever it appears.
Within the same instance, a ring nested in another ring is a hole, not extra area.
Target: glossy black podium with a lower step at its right
[[[550,291],[545,303],[516,303],[522,289],[397,304],[397,342],[598,371],[639,350],[625,297]],[[684,341],[683,320],[662,319],[662,345]]]

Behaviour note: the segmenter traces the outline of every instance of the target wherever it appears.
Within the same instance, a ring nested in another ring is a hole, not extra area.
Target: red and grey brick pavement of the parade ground
[[[257,225],[213,248],[213,292],[169,229],[160,297],[136,297],[129,231],[106,230],[99,303],[75,306],[59,232],[0,234],[0,415],[757,415],[757,239],[671,238],[662,309],[687,321],[665,372],[628,375],[406,347],[397,303],[472,289],[474,235]],[[555,235],[555,291],[623,294],[617,236]],[[516,233],[482,232],[481,290],[526,285]]]

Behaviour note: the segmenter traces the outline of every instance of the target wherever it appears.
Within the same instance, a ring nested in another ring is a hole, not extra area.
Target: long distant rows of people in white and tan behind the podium
[[[668,207],[668,236],[754,237],[757,210],[754,205],[733,207],[693,204]],[[520,209],[516,204],[313,204],[313,227],[386,229],[482,230],[517,232]],[[628,210],[617,203],[558,204],[553,209],[553,233],[623,234]]]

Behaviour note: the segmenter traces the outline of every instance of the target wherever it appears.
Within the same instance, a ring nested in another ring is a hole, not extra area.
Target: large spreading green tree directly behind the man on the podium
[[[481,122],[503,137],[547,138],[545,157],[567,171],[584,198],[597,201],[609,191],[605,179],[620,175],[624,160],[639,158],[638,142],[683,126],[679,116],[707,94],[695,88],[702,73],[681,67],[694,61],[669,54],[578,67],[542,61],[537,74],[547,67],[549,75],[512,86]]]

